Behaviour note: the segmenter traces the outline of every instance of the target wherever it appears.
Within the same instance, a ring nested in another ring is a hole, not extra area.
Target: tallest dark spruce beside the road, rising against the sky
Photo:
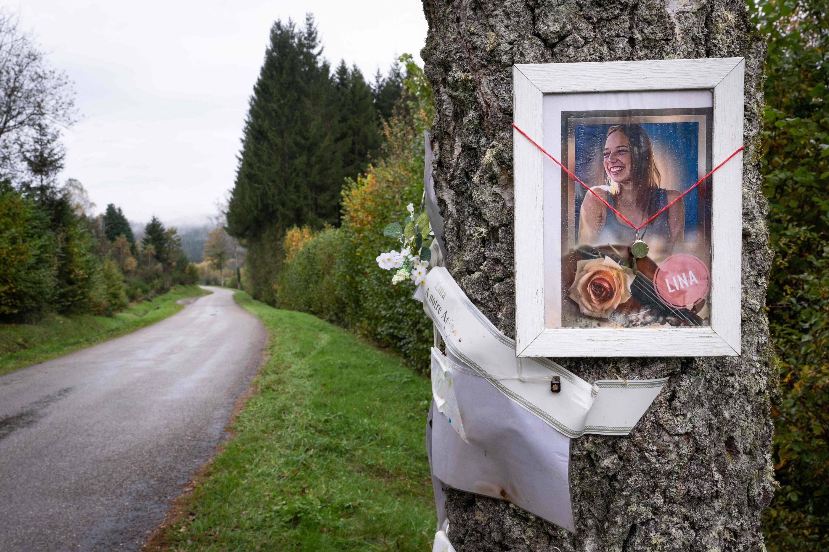
[[[245,120],[227,213],[231,235],[337,222],[342,163],[333,151],[332,94],[313,16],[303,29],[275,22]]]

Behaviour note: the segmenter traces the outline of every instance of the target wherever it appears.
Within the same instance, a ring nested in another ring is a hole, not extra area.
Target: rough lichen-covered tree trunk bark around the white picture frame
[[[450,539],[473,550],[762,550],[775,383],[765,315],[771,262],[760,192],[765,45],[744,0],[424,0],[437,115],[434,178],[448,269],[514,334],[511,65],[744,56],[739,358],[558,359],[588,381],[671,376],[629,437],[572,442],[577,532],[448,490]],[[739,183],[732,183],[739,185]]]

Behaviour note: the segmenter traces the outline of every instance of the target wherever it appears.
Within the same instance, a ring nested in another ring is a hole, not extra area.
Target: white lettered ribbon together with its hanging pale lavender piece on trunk
[[[442,267],[429,272],[423,300],[446,345],[445,357],[433,348],[434,401],[426,431],[439,528],[446,522],[445,483],[508,500],[573,531],[570,438],[628,434],[667,378],[591,385],[544,358],[516,358],[514,342],[492,326]],[[550,391],[555,376],[559,393]],[[444,415],[450,410],[448,381],[451,412],[463,420],[455,428],[451,415]]]

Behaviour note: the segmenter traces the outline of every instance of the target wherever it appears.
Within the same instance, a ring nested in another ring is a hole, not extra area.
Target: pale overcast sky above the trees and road
[[[271,24],[317,17],[332,65],[372,79],[396,55],[420,62],[419,0],[25,0],[3,7],[75,81],[82,122],[65,132],[66,178],[98,212],[201,222],[233,187],[247,102]]]

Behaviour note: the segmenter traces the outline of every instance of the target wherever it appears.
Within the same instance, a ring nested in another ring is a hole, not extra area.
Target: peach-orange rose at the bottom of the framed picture
[[[570,299],[579,304],[582,314],[610,318],[610,313],[630,299],[633,271],[610,257],[585,259],[576,264]]]

